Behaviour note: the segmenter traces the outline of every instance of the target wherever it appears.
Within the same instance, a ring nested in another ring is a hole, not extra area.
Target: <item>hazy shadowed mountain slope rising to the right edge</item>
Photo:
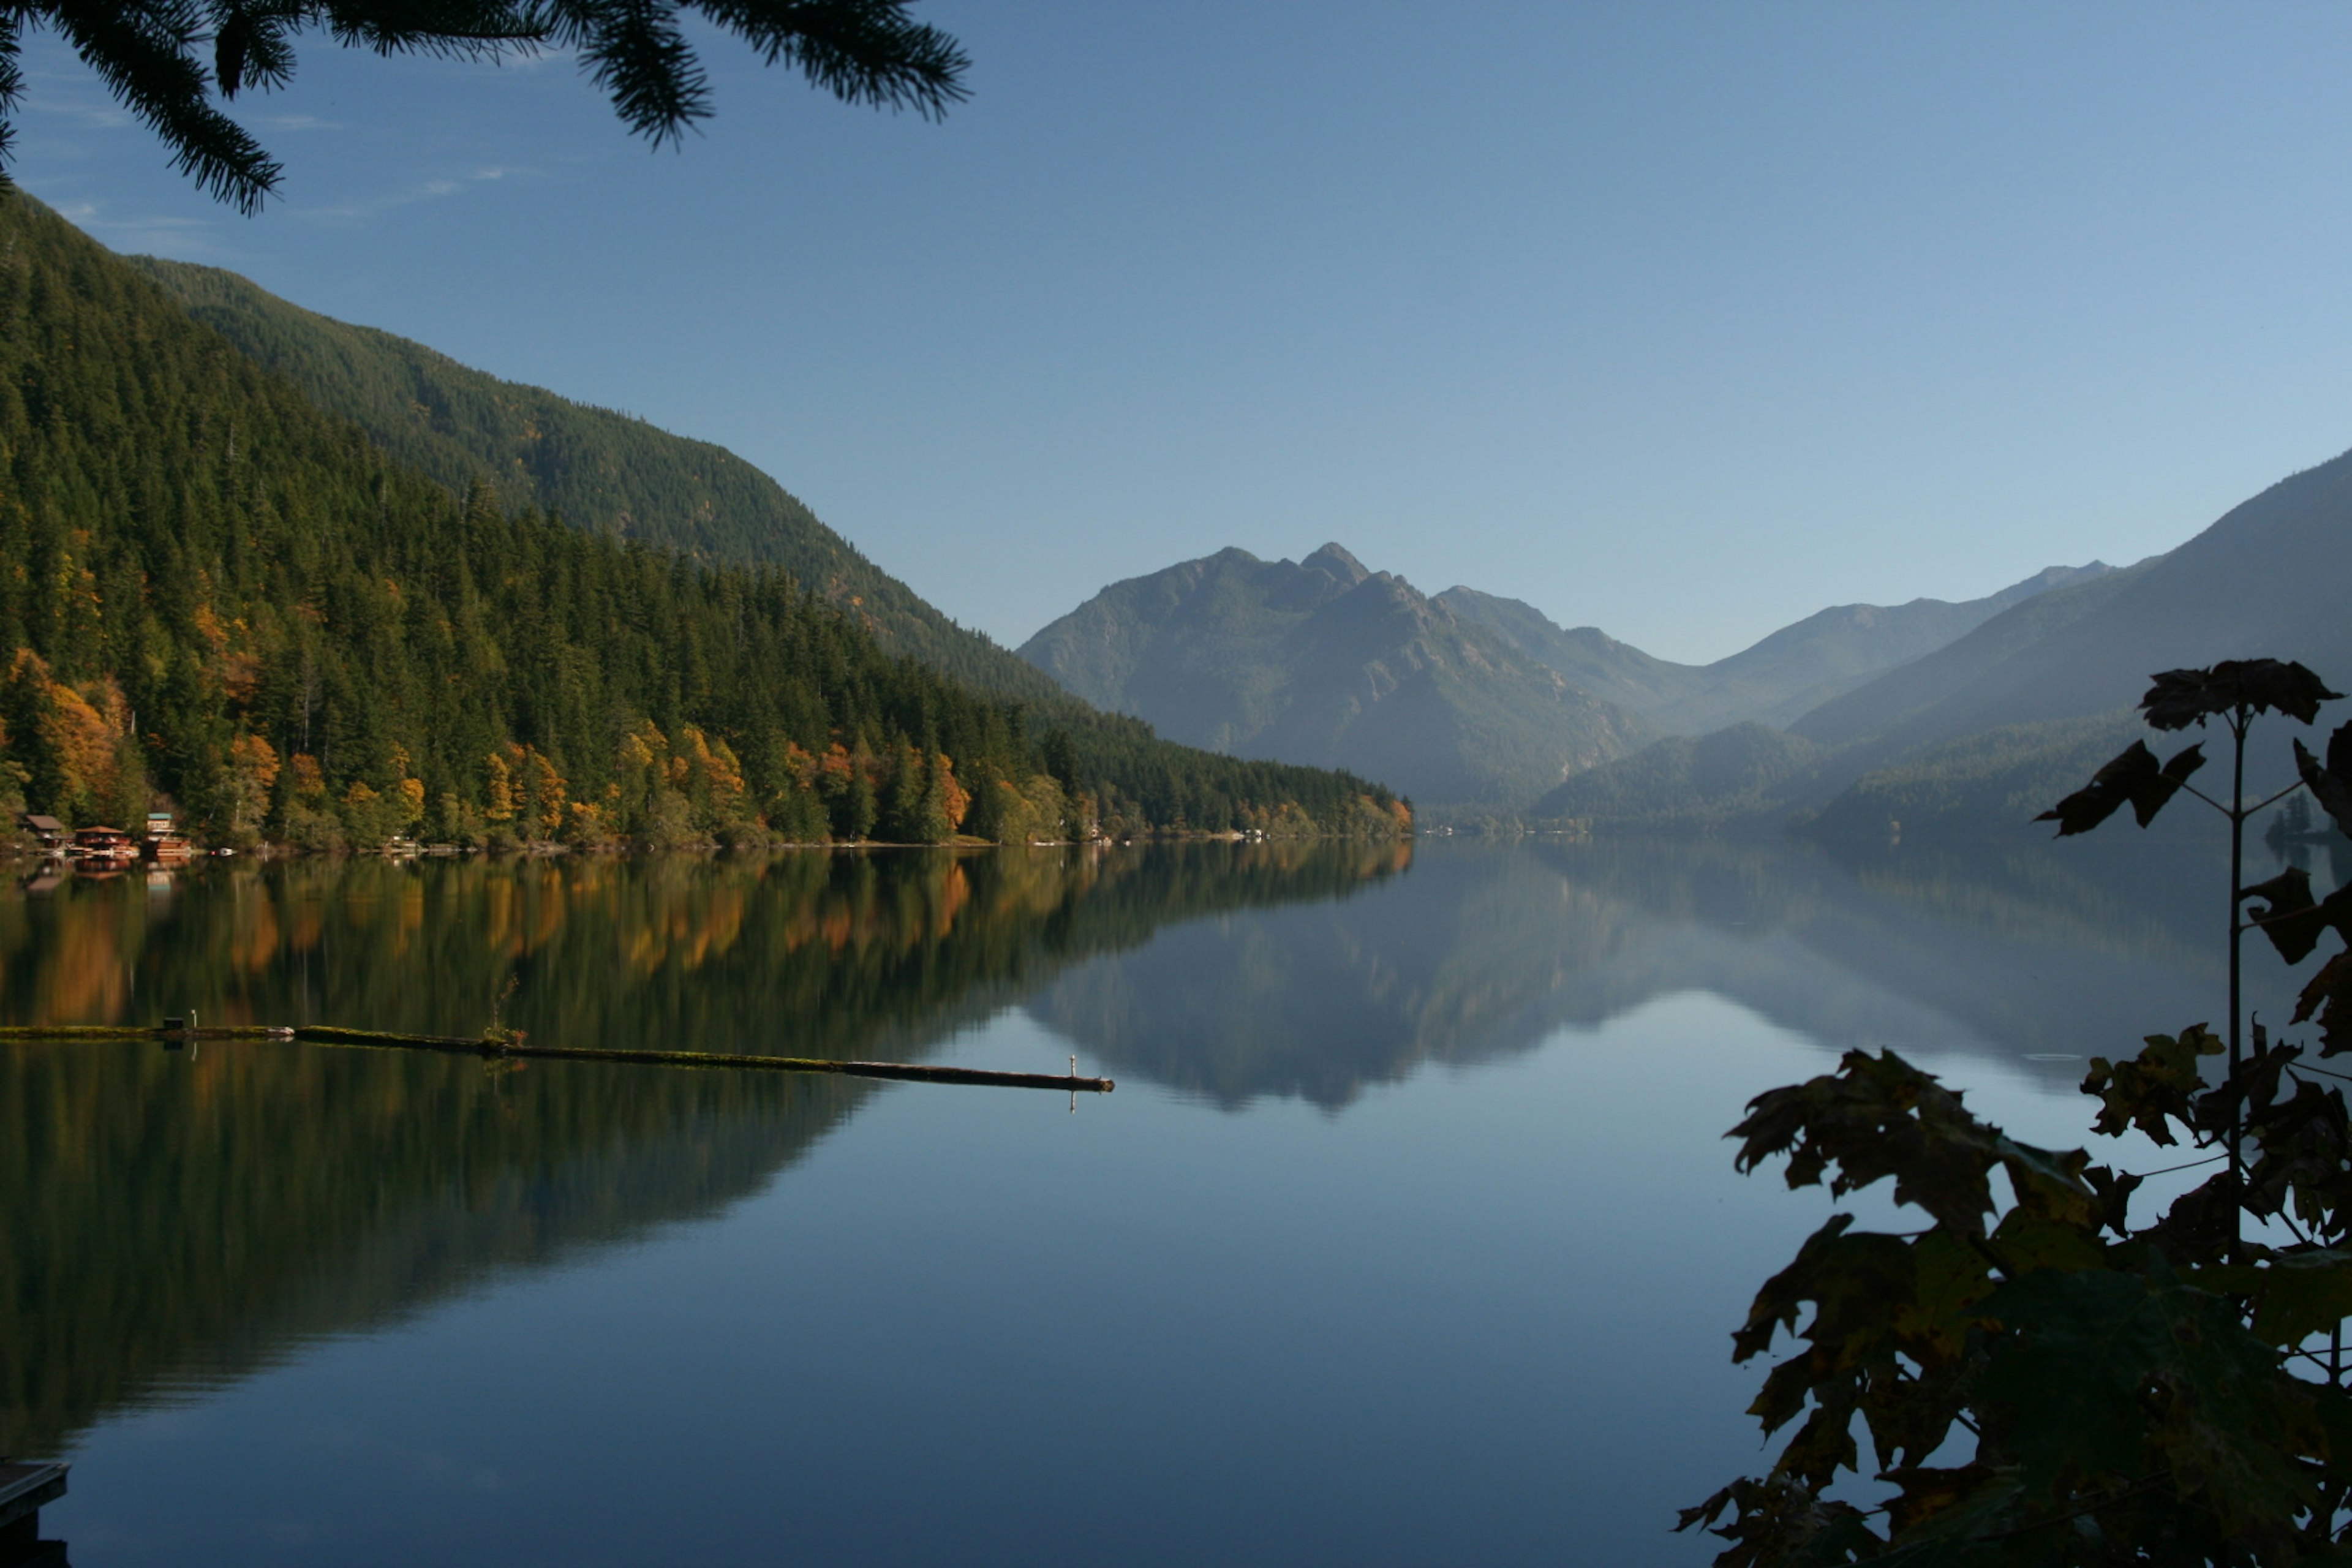
[[[1830,835],[2018,827],[2145,733],[2133,703],[2159,670],[2296,658],[2352,679],[2347,592],[2352,454],[2279,480],[2166,555],[2013,604],[1769,743],[1750,736],[1771,755],[1762,771],[1703,780],[1696,755],[1661,752],[1569,778],[1534,811]],[[2249,752],[2251,788],[2291,778],[2284,750]]]

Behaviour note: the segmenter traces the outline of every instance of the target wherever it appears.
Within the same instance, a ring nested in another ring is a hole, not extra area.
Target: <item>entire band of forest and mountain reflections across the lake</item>
[[[0,1013],[468,1034],[496,1016],[562,1044],[922,1058],[1025,1006],[1124,1079],[1341,1110],[1423,1063],[1700,990],[1820,1046],[2072,1079],[2072,1058],[2213,1016],[2211,872],[2138,844],[1628,842],[240,865],[0,896]],[[2253,969],[2274,1006],[2277,966]],[[0,1046],[0,1453],[710,1215],[875,1093]],[[988,1114],[993,1091],[903,1093],[974,1093]]]

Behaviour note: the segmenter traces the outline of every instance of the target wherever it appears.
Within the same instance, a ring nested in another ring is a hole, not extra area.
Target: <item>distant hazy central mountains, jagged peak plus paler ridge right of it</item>
[[[1112,583],[1021,656],[1188,745],[1343,766],[1423,806],[1515,811],[1661,738],[1783,726],[2004,611],[2110,576],[2091,562],[1962,604],[1842,604],[1682,665],[1519,599],[1423,595],[1336,543],[1301,562],[1218,550]]]

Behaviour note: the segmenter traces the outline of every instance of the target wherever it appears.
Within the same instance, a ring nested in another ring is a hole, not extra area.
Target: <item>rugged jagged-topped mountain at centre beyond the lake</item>
[[[1112,583],[1021,656],[1171,741],[1334,759],[1423,804],[1524,804],[1649,733],[1338,545]]]

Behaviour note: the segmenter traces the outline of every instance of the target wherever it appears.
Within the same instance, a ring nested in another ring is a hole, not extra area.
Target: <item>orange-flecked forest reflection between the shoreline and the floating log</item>
[[[1171,919],[1329,898],[1404,846],[296,860],[0,898],[7,1023],[343,1023],[771,1056],[920,1051]]]

